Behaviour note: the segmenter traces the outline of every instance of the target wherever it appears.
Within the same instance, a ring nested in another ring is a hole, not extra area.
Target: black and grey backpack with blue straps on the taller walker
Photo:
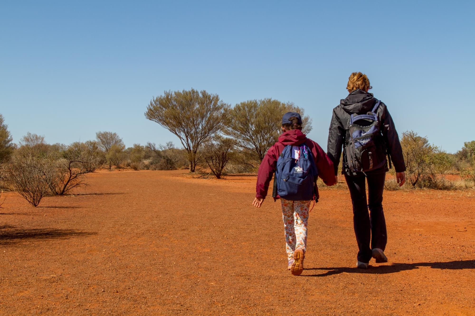
[[[347,171],[365,173],[386,164],[386,147],[376,115],[380,103],[378,100],[371,112],[351,115],[345,140]]]

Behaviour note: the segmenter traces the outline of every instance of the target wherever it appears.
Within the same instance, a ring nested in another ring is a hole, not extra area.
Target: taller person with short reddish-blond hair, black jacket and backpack
[[[402,186],[406,181],[406,167],[388,108],[368,93],[371,86],[366,74],[352,73],[346,89],[350,94],[333,109],[327,154],[337,177],[343,149],[342,174],[350,189],[359,248],[357,267],[366,269],[371,257],[376,262],[388,262],[384,254],[388,239],[382,207],[384,180],[392,161],[397,181]],[[368,200],[365,181],[368,182]]]

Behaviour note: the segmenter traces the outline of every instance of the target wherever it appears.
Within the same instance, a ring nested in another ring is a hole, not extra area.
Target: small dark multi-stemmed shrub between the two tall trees
[[[232,157],[232,151],[236,141],[231,138],[217,137],[215,140],[205,144],[203,148],[203,158],[216,178],[220,179],[224,167]]]

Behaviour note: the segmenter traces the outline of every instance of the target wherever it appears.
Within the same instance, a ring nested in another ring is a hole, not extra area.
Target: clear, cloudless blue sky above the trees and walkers
[[[326,148],[348,76],[399,135],[474,140],[475,1],[1,1],[0,113],[14,141],[178,139],[143,112],[165,90],[303,107]]]

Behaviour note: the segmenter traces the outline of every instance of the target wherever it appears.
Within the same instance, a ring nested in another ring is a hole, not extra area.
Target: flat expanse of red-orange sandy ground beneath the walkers
[[[74,196],[0,209],[4,315],[475,315],[475,192],[385,192],[389,262],[355,268],[348,191],[322,189],[305,270],[255,176],[101,171]]]

